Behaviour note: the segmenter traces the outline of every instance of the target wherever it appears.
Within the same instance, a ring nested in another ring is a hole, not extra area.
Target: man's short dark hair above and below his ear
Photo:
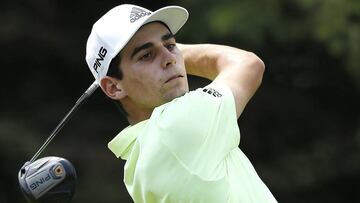
[[[108,72],[106,75],[117,78],[119,80],[122,80],[124,75],[120,68],[120,62],[121,62],[121,57],[120,57],[120,53],[119,53],[111,60],[109,69],[108,69]],[[115,104],[116,108],[120,111],[120,113],[123,114],[125,117],[127,117],[128,113],[126,112],[124,107],[121,105],[121,103],[116,100],[112,100],[112,101]]]

